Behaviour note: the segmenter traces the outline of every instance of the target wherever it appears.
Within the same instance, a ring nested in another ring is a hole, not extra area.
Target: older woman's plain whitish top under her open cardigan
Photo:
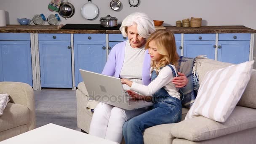
[[[126,78],[136,83],[142,84],[142,67],[145,58],[144,45],[141,48],[132,48],[129,40],[125,43],[125,58],[120,72],[121,78]],[[123,85],[124,90],[130,89],[128,85]]]

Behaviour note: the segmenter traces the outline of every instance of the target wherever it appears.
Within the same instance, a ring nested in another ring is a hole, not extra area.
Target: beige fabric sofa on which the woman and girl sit
[[[200,59],[196,64],[200,82],[206,72],[227,67],[229,63]],[[92,113],[86,109],[88,96],[85,86],[77,89],[77,125],[89,132]],[[203,116],[184,120],[188,109],[182,108],[180,123],[157,125],[144,132],[145,144],[255,144],[256,143],[256,70],[253,69],[242,98],[225,123]]]

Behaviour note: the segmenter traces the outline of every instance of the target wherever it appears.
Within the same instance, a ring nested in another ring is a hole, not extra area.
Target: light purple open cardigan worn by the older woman
[[[109,53],[107,63],[105,64],[101,74],[120,77],[123,61],[125,59],[125,43],[126,41],[118,43],[114,46],[114,48],[112,48],[111,52]],[[145,58],[142,67],[142,83],[144,85],[148,85],[150,82],[150,56],[147,50],[145,52]]]

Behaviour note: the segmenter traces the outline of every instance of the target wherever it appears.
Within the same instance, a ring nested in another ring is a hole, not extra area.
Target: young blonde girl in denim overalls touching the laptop
[[[121,81],[131,87],[132,91],[128,93],[133,99],[152,100],[154,105],[149,111],[125,122],[125,144],[143,144],[146,128],[181,121],[179,89],[171,82],[177,75],[175,66],[179,59],[174,35],[169,30],[157,30],[149,36],[145,48],[151,58],[151,83],[141,85],[127,79]]]

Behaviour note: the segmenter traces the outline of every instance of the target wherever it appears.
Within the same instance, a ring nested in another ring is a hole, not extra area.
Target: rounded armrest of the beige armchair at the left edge
[[[0,93],[8,93],[10,102],[21,104],[29,109],[28,128],[35,128],[35,101],[34,91],[27,83],[20,82],[0,82]]]

